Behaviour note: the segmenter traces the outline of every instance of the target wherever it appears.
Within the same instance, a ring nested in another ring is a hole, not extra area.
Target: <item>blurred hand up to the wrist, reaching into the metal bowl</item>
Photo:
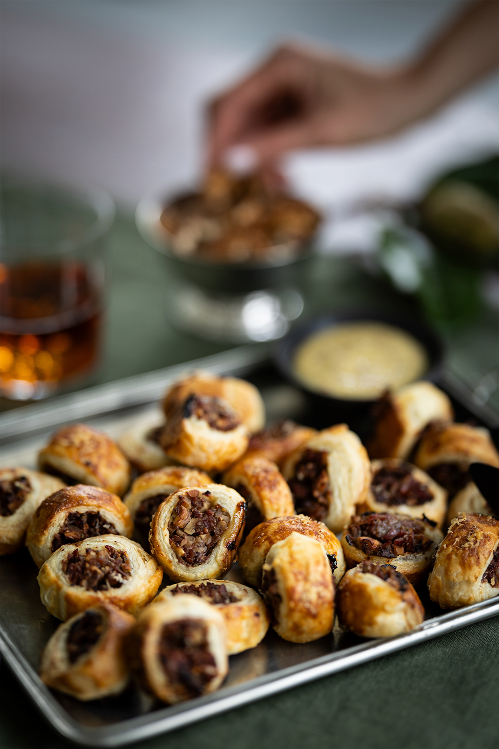
[[[212,103],[210,166],[233,145],[251,146],[260,164],[270,166],[284,151],[393,133],[414,108],[407,77],[317,49],[281,46]]]

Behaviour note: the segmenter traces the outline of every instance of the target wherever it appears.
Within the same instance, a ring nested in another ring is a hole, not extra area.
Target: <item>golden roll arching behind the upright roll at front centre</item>
[[[307,515],[274,518],[260,523],[249,533],[248,538],[239,548],[238,554],[239,566],[245,580],[255,588],[260,588],[262,568],[267,554],[275,543],[287,539],[291,533],[301,533],[302,536],[315,539],[322,544],[334,580],[339,583],[346,570],[341,544],[328,527],[312,520]]]

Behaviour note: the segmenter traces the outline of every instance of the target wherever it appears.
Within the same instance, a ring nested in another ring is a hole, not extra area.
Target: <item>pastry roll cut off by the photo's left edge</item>
[[[60,479],[37,470],[0,469],[0,555],[21,548],[34,512],[46,497],[63,487]]]

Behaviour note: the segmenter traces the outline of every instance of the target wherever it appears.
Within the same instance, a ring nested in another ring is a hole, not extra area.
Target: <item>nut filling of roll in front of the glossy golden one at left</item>
[[[62,562],[62,571],[70,585],[81,585],[87,590],[120,588],[132,574],[132,565],[125,551],[112,546],[85,549],[85,555],[75,549]]]

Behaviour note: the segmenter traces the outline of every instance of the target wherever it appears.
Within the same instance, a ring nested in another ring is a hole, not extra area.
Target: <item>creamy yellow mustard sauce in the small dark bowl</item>
[[[311,390],[370,400],[413,382],[428,367],[423,346],[405,330],[355,322],[319,330],[296,349],[293,369]]]

